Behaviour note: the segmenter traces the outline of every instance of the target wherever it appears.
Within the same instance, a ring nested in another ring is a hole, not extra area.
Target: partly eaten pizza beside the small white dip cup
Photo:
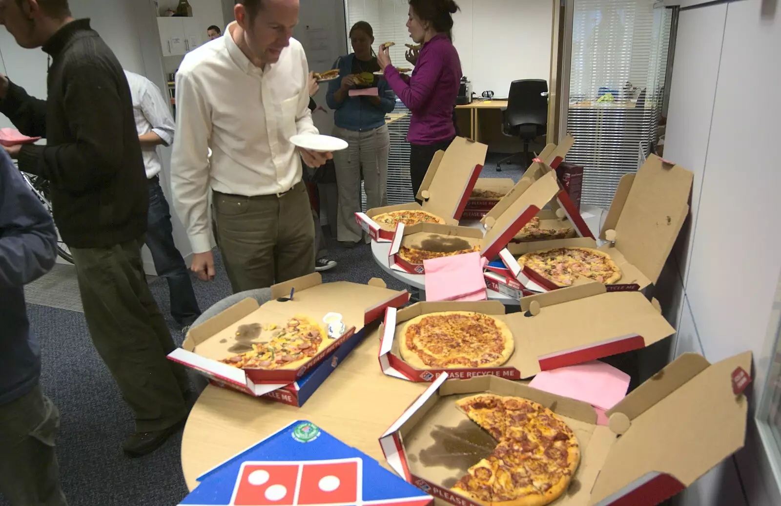
[[[333,342],[326,339],[326,331],[305,316],[296,316],[277,328],[268,326],[261,333],[266,342],[251,344],[252,349],[220,362],[238,369],[298,369]]]

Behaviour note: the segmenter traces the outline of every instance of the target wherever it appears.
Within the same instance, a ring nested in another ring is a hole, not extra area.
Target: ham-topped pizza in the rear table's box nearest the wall
[[[526,253],[520,265],[551,281],[558,287],[569,287],[578,278],[612,284],[621,279],[621,269],[610,255],[591,248],[554,248]]]

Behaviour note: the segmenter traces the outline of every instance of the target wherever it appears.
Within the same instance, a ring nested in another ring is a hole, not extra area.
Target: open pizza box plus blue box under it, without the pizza
[[[323,283],[319,273],[277,284],[271,287],[271,296],[264,305],[244,299],[191,328],[169,360],[194,369],[219,387],[300,407],[366,337],[369,323],[382,319],[386,308],[401,307],[409,300],[408,292],[389,290],[382,280]],[[311,319],[327,333],[326,321],[334,322],[334,315],[341,325],[325,337],[327,347],[298,369],[238,369],[220,362],[248,351],[251,344],[270,340],[273,328],[284,327],[290,319]],[[255,326],[260,333],[248,342],[240,337],[242,326]]]

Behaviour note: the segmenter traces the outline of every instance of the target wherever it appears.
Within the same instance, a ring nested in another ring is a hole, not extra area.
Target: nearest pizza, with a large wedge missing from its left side
[[[494,394],[456,405],[498,444],[451,490],[487,506],[544,506],[565,493],[580,464],[580,445],[558,415],[528,399]]]

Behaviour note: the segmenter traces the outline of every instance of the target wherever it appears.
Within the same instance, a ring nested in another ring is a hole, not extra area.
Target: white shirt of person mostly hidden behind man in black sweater
[[[133,115],[136,118],[136,130],[138,135],[155,132],[166,146],[173,142],[173,134],[176,130],[171,114],[171,106],[166,102],[160,88],[151,80],[137,73],[125,70],[127,84],[130,84],[130,95],[133,97]],[[157,176],[162,170],[162,162],[157,152],[157,146],[144,148],[141,146],[141,154],[144,155],[144,167],[147,171],[147,179]]]

